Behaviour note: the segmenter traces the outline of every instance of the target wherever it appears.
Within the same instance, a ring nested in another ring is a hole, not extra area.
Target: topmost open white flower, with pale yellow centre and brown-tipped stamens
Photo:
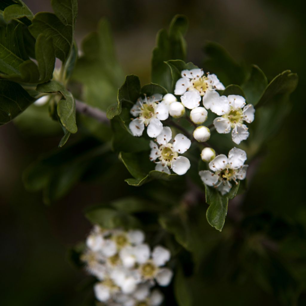
[[[200,106],[201,97],[210,91],[225,89],[215,74],[204,74],[203,69],[183,70],[182,78],[175,84],[175,95],[182,95],[181,102],[185,107],[194,109]]]

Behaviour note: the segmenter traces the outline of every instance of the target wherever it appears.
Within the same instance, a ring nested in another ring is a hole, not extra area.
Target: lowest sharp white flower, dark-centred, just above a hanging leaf
[[[226,155],[218,155],[209,164],[208,170],[199,172],[204,184],[214,186],[222,195],[225,195],[232,188],[231,181],[238,184],[237,180],[244,180],[248,165],[244,165],[247,159],[245,151],[234,147],[230,150],[228,158]]]

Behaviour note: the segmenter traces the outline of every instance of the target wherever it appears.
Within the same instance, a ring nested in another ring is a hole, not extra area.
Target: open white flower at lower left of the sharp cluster
[[[159,145],[153,141],[150,142],[150,160],[156,163],[157,171],[170,174],[170,168],[176,174],[183,175],[190,168],[190,162],[187,157],[179,156],[179,154],[189,149],[191,141],[183,134],[177,134],[172,142],[170,142],[171,138],[171,129],[168,126],[164,127],[160,135],[156,137]]]

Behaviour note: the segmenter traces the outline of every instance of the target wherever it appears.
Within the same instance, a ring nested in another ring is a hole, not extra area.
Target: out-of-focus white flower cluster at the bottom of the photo
[[[99,282],[95,297],[108,306],[158,306],[162,293],[154,288],[169,285],[173,272],[164,267],[170,251],[144,243],[140,230],[106,230],[94,226],[81,259]]]

